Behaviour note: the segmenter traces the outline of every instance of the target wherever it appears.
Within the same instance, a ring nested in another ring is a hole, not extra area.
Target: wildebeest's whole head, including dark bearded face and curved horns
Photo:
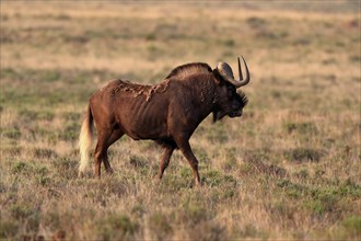
[[[217,122],[224,116],[240,117],[242,115],[243,107],[247,104],[248,100],[246,95],[236,89],[243,87],[249,82],[249,71],[247,64],[242,57],[246,69],[246,78],[243,79],[241,61],[238,58],[238,76],[240,80],[235,80],[231,67],[226,62],[219,62],[213,73],[217,79],[218,88],[214,100],[213,122]]]

